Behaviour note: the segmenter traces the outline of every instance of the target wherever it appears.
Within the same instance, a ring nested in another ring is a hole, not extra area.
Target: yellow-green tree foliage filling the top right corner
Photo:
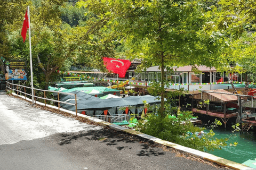
[[[209,27],[228,36],[231,50],[227,55],[234,66],[240,66],[237,71],[246,71],[248,80],[255,81],[255,2],[222,0],[218,4],[221,10],[215,12],[219,17]]]

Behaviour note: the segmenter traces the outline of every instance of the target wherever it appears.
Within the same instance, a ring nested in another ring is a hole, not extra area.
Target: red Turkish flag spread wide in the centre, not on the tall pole
[[[103,62],[108,71],[112,71],[119,75],[120,78],[125,77],[126,70],[129,69],[131,62],[129,60],[122,60],[117,58],[103,57]]]

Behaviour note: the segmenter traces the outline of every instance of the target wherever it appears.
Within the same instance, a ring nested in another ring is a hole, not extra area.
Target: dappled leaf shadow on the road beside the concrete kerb
[[[105,143],[106,146],[115,147],[119,151],[133,149],[133,143],[136,143],[140,148],[140,150],[138,150],[139,152],[137,152],[138,156],[165,155],[162,149],[155,149],[146,139],[107,128],[85,130],[76,133],[61,133],[59,134],[58,145],[69,145],[77,140],[83,140],[84,143],[86,143],[86,141]]]

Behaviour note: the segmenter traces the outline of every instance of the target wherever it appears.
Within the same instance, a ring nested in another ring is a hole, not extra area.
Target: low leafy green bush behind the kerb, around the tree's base
[[[193,116],[188,111],[181,112],[178,116],[166,115],[165,117],[148,114],[139,121],[136,128],[138,131],[156,138],[201,151],[221,149],[221,147],[227,146],[228,139],[214,138],[212,130],[205,133],[201,139],[198,138],[196,133],[204,129],[194,126],[189,121],[191,117]]]

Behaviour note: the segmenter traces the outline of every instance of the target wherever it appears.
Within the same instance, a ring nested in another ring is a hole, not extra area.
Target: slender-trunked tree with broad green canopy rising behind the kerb
[[[214,17],[206,10],[205,1],[86,0],[79,5],[96,14],[99,21],[107,21],[117,33],[136,45],[132,50],[142,53],[143,66],[161,67],[161,116],[165,68],[227,64],[226,56],[222,55],[228,47],[225,37],[220,32],[204,29]]]

